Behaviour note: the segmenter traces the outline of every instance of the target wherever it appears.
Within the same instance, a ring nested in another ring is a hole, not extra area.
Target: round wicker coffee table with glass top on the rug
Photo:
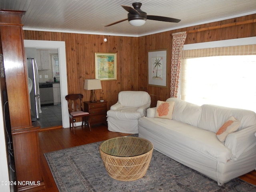
[[[100,144],[100,156],[108,174],[120,181],[142,178],[150,164],[153,144],[139,137],[117,137]]]

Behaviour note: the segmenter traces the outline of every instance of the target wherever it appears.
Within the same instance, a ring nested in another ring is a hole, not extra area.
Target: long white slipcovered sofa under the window
[[[256,168],[256,114],[249,110],[214,105],[197,106],[174,101],[172,120],[154,118],[156,107],[139,119],[139,137],[170,158],[222,185]],[[216,137],[230,116],[240,121],[225,142]]]

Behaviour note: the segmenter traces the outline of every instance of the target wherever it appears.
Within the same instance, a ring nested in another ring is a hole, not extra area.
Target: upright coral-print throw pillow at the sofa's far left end
[[[157,101],[155,117],[163,119],[172,119],[174,101]]]

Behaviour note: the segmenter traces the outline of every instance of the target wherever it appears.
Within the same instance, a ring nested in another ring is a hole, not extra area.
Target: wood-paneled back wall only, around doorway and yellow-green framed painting
[[[82,93],[84,101],[90,100],[84,80],[95,78],[95,52],[116,53],[117,62],[117,80],[101,82],[102,89],[95,90],[98,100],[103,97],[110,107],[120,91],[138,90],[138,38],[27,30],[24,34],[26,40],[65,41],[68,94]]]

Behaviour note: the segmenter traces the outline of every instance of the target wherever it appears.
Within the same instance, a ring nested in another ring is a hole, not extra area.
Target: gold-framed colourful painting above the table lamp
[[[95,53],[95,78],[116,80],[116,53]]]

